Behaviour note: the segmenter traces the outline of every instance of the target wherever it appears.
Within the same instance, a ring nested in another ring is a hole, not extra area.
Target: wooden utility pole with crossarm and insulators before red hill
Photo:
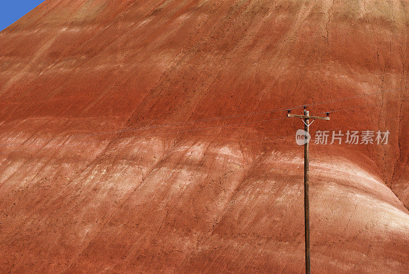
[[[287,117],[291,118],[301,118],[304,122],[304,233],[305,233],[305,273],[311,274],[310,265],[310,201],[309,201],[309,147],[308,147],[308,135],[309,127],[315,119],[319,120],[329,120],[329,113],[327,112],[327,117],[320,116],[309,116],[309,111],[306,110],[304,106],[304,115],[292,115],[290,114],[290,109],[288,110]],[[313,119],[310,123],[310,119]]]

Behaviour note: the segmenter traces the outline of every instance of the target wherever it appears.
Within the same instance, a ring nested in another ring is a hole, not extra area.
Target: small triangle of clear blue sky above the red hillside
[[[0,0],[0,31],[25,15],[44,0]]]

